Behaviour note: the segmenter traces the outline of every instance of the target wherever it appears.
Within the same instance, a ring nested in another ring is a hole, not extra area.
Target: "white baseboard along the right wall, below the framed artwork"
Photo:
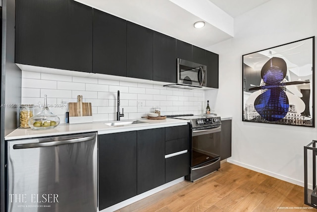
[[[283,181],[286,181],[286,182],[289,182],[289,183],[304,187],[304,182],[299,181],[299,180],[295,180],[295,179],[292,179],[292,178],[289,178],[289,177],[286,177],[286,176],[283,176],[283,175],[280,175],[280,174],[276,174],[276,173],[273,173],[273,172],[270,172],[270,171],[255,167],[255,166],[250,166],[248,164],[241,163],[239,161],[232,160],[230,158],[227,159],[227,162],[233,163],[235,165],[242,166],[244,168],[251,169],[253,171],[260,172],[262,174],[266,174],[268,176],[271,176],[271,177],[274,177],[274,178],[277,178],[277,179],[280,179],[280,180],[283,180]]]

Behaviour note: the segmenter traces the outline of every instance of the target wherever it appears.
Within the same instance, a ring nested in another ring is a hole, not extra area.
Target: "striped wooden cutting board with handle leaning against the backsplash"
[[[68,103],[69,116],[92,116],[91,103],[83,102],[83,96],[77,96],[77,102]]]

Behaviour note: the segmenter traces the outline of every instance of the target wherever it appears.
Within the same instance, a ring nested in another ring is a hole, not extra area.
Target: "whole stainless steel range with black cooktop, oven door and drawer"
[[[187,180],[193,182],[220,168],[220,117],[179,116],[191,122],[191,167]]]

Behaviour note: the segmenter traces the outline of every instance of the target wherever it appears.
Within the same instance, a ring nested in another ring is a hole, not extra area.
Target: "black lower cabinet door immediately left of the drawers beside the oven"
[[[138,194],[165,183],[165,129],[138,131]]]

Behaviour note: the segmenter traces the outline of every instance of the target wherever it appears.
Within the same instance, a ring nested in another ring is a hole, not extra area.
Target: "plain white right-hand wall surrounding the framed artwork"
[[[317,129],[242,122],[242,55],[316,36],[316,9],[317,0],[270,0],[235,18],[234,38],[208,48],[219,54],[219,89],[206,100],[233,117],[229,161],[302,186],[304,145]]]

